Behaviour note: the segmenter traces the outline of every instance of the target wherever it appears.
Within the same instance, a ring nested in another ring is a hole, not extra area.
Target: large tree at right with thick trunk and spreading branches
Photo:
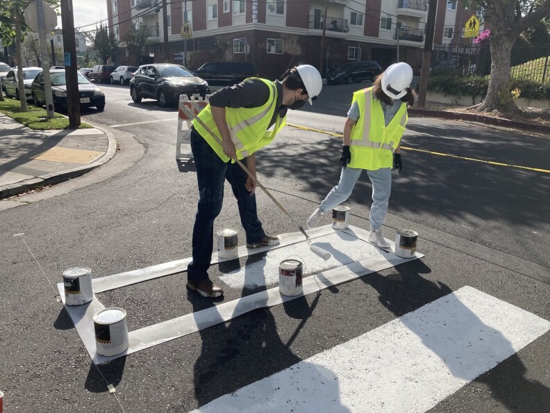
[[[469,7],[471,3],[466,1],[465,5]],[[485,8],[485,22],[491,28],[491,74],[487,96],[474,108],[483,112],[518,113],[510,82],[512,46],[519,35],[550,15],[550,0],[478,0],[476,3]]]

